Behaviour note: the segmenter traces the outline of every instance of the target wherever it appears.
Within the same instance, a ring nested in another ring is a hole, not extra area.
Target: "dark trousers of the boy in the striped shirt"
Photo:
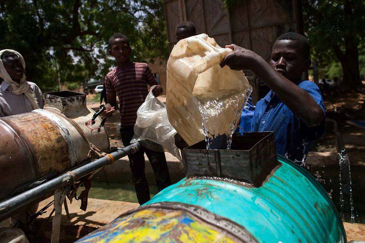
[[[122,135],[124,147],[130,145],[131,139],[134,135],[133,126],[121,126],[120,134]],[[158,191],[161,191],[165,187],[171,185],[165,153],[149,150],[141,146],[137,153],[128,155],[132,171],[132,182],[134,183],[139,204],[146,203],[150,200],[150,190],[145,174],[145,153],[147,158],[150,160],[153,172],[155,174]]]

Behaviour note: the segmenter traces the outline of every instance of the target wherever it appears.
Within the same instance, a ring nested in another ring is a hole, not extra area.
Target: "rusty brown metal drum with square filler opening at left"
[[[61,91],[45,95],[44,109],[0,118],[0,200],[87,161],[89,145],[76,126],[89,142],[109,150],[106,129],[85,125],[94,113],[85,94]],[[95,121],[99,126],[101,119]]]

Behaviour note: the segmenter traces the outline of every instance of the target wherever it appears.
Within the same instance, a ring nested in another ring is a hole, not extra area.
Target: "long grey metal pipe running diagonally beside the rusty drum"
[[[133,143],[125,148],[112,152],[110,155],[114,160],[117,160],[138,151],[140,147],[138,142]],[[39,202],[38,200],[42,199],[45,195],[53,193],[57,188],[67,186],[73,183],[74,180],[78,180],[108,164],[110,164],[108,159],[101,157],[28,191],[22,192],[19,195],[3,200],[0,202],[0,222],[18,213],[23,207]]]

